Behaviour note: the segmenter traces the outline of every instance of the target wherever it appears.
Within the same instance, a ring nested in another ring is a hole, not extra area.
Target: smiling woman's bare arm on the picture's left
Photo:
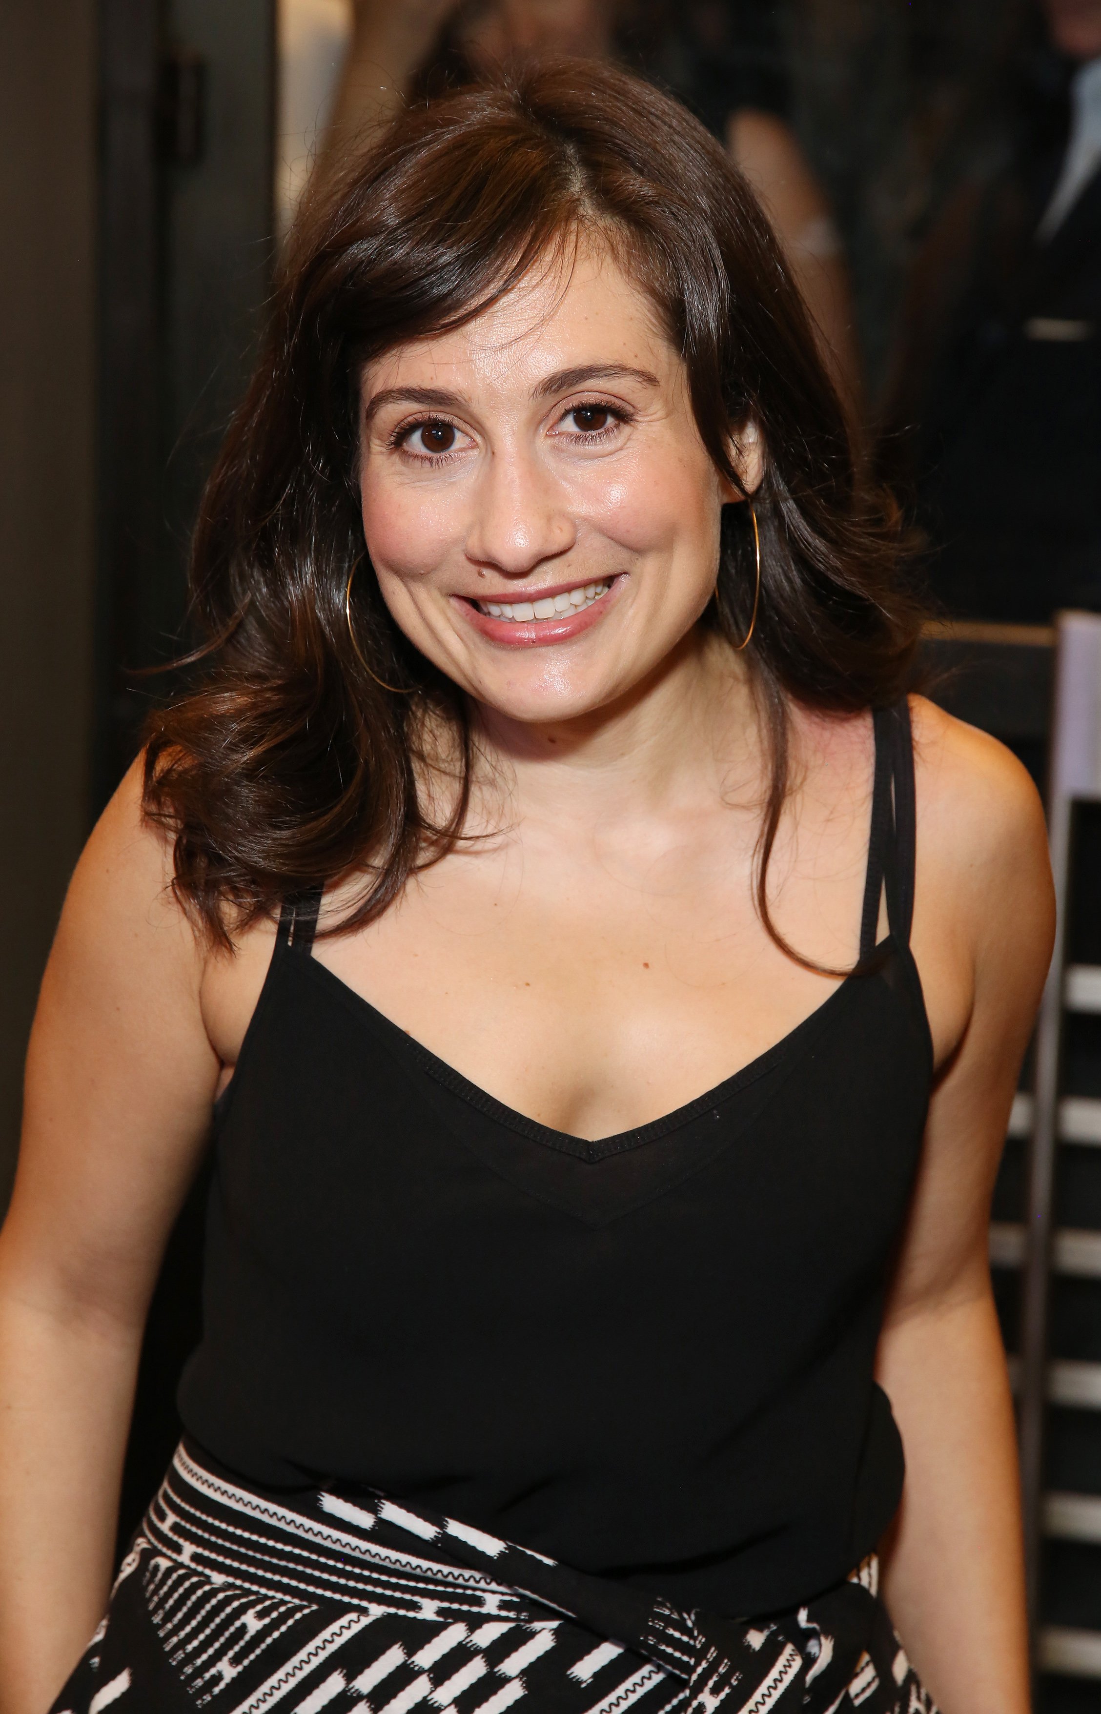
[[[204,953],[135,764],[77,866],[0,1232],[0,1714],[45,1714],[103,1616],[146,1309],[211,1121]]]

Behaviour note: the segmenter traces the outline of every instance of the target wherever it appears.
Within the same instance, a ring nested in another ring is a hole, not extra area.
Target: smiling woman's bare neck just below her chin
[[[760,722],[744,662],[696,627],[628,696],[573,720],[516,722],[478,704],[475,819],[554,819],[583,831],[665,812],[760,778]],[[496,790],[490,787],[494,782]]]

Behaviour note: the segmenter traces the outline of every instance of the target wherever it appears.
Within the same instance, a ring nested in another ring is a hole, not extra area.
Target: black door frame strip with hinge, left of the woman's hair
[[[273,262],[273,0],[101,0],[96,799],[185,632],[199,492]]]

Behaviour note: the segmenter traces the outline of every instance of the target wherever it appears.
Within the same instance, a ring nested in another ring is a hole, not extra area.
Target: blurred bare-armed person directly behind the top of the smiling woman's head
[[[696,0],[676,12],[664,0],[355,0],[352,46],[322,156],[338,156],[364,125],[388,118],[405,98],[463,84],[514,55],[641,63],[676,94],[689,94],[689,105],[753,185],[833,379],[859,420],[852,295],[828,199],[779,111],[782,81],[768,55],[755,53],[753,41],[748,55],[736,51],[739,38],[760,34],[760,26],[756,14],[748,12],[743,22],[737,3],[724,0]]]

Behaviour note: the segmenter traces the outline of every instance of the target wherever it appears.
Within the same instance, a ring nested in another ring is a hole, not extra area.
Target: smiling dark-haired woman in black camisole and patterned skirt
[[[1024,1714],[984,1248],[1044,830],[909,708],[893,557],[664,96],[563,62],[316,194],[202,504],[206,679],[34,1028],[3,1714],[103,1611],[211,1116],[187,1440],[57,1711]]]

